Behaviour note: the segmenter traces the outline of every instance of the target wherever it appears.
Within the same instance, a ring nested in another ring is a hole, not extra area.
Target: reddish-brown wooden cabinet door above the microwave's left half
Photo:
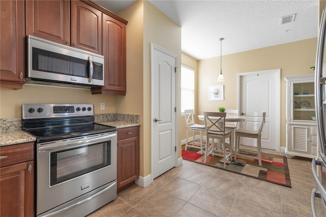
[[[69,1],[26,1],[26,35],[70,45]]]

